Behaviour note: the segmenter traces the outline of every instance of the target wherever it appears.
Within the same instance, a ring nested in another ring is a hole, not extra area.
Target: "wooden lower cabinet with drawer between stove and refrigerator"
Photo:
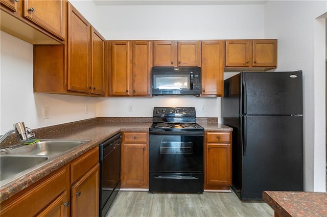
[[[231,132],[205,132],[204,189],[229,191],[231,186]]]

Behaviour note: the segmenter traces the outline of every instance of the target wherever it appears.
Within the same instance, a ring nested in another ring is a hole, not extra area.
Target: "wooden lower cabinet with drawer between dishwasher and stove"
[[[149,188],[148,138],[148,132],[123,132],[122,188]]]

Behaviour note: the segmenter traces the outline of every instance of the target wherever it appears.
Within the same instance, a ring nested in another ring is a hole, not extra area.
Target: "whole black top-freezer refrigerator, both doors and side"
[[[232,131],[232,189],[303,191],[302,71],[241,72],[224,80],[223,124]]]

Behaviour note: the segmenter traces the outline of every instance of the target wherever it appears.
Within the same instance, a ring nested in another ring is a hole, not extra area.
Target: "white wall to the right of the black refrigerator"
[[[326,1],[268,1],[265,36],[278,39],[278,71],[303,71],[305,190],[325,191]]]

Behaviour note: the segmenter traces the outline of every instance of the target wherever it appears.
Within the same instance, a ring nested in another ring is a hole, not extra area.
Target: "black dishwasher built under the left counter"
[[[121,187],[121,142],[122,134],[118,133],[99,145],[99,216],[105,216]]]

